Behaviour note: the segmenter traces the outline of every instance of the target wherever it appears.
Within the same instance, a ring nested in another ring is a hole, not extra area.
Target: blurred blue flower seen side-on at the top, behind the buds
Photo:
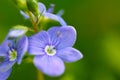
[[[58,21],[62,26],[66,26],[66,22],[61,18],[61,15],[55,15],[55,14],[52,14],[52,8],[54,7],[53,5],[51,5],[51,7],[46,10],[46,7],[43,3],[38,3],[38,7],[39,7],[39,12],[40,14],[42,14],[44,16],[44,18],[48,18],[48,19],[52,19],[52,20],[55,20],[55,21]],[[24,16],[25,19],[28,19],[29,16],[24,13],[23,11],[20,11],[20,13]],[[33,15],[34,16],[34,15]]]

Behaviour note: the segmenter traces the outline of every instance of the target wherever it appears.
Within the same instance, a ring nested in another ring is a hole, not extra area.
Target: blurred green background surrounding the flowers
[[[77,30],[75,48],[84,58],[66,63],[60,77],[44,75],[44,80],[120,80],[120,0],[41,0]],[[0,0],[0,43],[9,29],[25,20],[10,0]],[[8,80],[40,80],[33,64],[15,65]]]

